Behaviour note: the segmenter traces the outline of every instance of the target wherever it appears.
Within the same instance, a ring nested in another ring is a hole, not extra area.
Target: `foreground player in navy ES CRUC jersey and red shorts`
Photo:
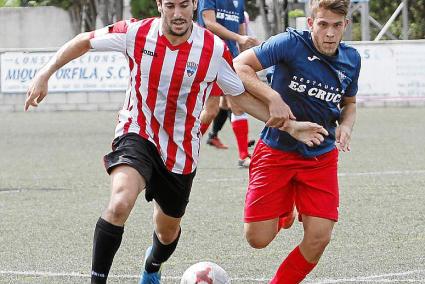
[[[241,53],[234,67],[246,90],[274,112],[286,109],[298,121],[329,132],[309,147],[277,128],[265,127],[250,166],[245,200],[245,236],[266,247],[295,219],[303,223],[301,243],[286,257],[271,283],[299,283],[315,267],[338,220],[338,149],[350,150],[356,117],[358,52],[341,43],[349,0],[311,0],[309,31],[287,30]],[[275,66],[271,87],[256,71]],[[287,123],[275,120],[274,126]]]

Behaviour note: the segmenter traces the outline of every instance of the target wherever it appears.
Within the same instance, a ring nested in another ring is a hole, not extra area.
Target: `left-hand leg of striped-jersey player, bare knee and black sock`
[[[145,180],[137,170],[122,165],[111,172],[111,198],[94,231],[92,283],[106,283],[115,253],[121,244],[124,223]]]

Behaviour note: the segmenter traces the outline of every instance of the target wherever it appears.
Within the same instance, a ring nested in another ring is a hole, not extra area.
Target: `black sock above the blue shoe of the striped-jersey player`
[[[151,251],[151,254],[148,256],[148,259],[146,260],[146,265],[145,265],[146,272],[152,273],[152,272],[159,271],[159,268],[161,267],[161,263],[166,262],[170,258],[170,256],[173,254],[173,252],[176,250],[181,232],[182,230],[180,228],[177,238],[171,244],[168,244],[168,245],[162,244],[159,241],[155,231],[153,232],[152,251]]]

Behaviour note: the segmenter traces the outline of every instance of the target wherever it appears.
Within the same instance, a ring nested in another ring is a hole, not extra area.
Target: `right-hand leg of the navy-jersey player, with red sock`
[[[304,238],[283,261],[270,283],[300,283],[309,274],[328,245],[334,221],[302,215]]]

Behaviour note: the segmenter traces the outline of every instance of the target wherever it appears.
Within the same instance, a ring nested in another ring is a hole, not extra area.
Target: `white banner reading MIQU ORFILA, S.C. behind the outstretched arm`
[[[54,52],[1,54],[1,92],[25,93],[35,73]],[[128,64],[117,52],[89,52],[59,69],[49,80],[50,92],[122,91],[128,85]]]

